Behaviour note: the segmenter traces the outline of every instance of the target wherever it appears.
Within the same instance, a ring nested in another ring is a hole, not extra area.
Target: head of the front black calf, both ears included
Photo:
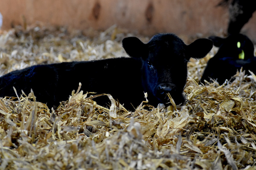
[[[212,41],[198,39],[186,45],[175,34],[157,34],[144,44],[136,37],[122,41],[130,57],[142,61],[142,84],[148,99],[166,103],[170,93],[175,103],[184,102],[183,88],[187,78],[187,62],[192,58],[203,58],[212,49]]]

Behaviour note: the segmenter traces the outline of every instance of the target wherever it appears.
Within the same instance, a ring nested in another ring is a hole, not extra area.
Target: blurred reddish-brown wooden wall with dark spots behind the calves
[[[173,32],[187,36],[218,35],[227,30],[228,9],[220,0],[1,0],[2,29],[43,23],[76,29],[105,30],[116,24],[152,35]],[[256,40],[256,14],[242,32]]]

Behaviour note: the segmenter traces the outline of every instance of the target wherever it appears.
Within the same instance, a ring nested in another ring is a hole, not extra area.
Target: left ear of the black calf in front
[[[145,58],[148,55],[147,45],[137,37],[127,37],[122,40],[122,46],[130,57]]]

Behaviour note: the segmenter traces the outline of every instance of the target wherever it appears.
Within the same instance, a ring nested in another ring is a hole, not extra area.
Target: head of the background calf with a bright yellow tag
[[[230,57],[233,59],[249,59],[254,57],[253,42],[243,34],[231,34],[227,38],[209,37],[219,47],[215,58]]]

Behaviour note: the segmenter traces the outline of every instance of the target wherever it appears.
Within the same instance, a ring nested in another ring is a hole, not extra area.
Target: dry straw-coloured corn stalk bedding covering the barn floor
[[[0,75],[35,64],[126,56],[121,40],[127,36],[115,26],[102,32],[17,27],[0,34]],[[216,50],[189,62],[184,106],[144,102],[128,112],[111,99],[109,110],[79,85],[56,110],[31,102],[33,93],[0,99],[0,169],[255,169],[256,76],[240,71],[232,83],[198,85]]]

